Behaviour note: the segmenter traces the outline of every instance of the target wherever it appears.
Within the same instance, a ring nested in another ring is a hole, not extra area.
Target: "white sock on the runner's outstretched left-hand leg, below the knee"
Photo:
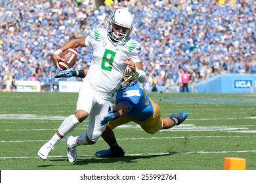
[[[73,131],[77,124],[79,124],[79,121],[77,120],[77,118],[75,118],[75,115],[70,115],[62,122],[62,124],[58,128],[58,132],[64,137],[68,135],[70,131]]]

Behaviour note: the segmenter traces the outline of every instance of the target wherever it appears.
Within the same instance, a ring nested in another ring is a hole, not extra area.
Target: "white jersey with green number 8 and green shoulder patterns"
[[[140,44],[134,39],[112,42],[104,28],[94,28],[85,39],[85,45],[93,48],[93,60],[84,78],[103,99],[114,99],[127,65],[125,58],[139,62]]]

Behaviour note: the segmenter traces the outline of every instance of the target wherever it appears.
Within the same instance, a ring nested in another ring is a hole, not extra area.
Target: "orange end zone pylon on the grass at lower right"
[[[246,159],[244,158],[224,158],[224,170],[245,170]]]

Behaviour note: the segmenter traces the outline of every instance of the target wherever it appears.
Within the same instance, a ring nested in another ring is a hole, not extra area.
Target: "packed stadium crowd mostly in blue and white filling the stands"
[[[51,55],[64,42],[106,27],[114,8],[134,17],[131,37],[142,45],[147,92],[172,92],[188,73],[189,85],[223,73],[256,73],[255,1],[210,0],[91,1],[9,0],[0,27],[0,91],[7,80],[39,80],[42,91],[58,88]],[[109,4],[108,4],[109,3]],[[74,70],[88,68],[93,53],[78,50]],[[79,80],[62,78],[61,80]],[[152,91],[149,91],[152,86]],[[154,87],[156,86],[156,87]],[[193,92],[193,91],[190,91]],[[196,90],[194,90],[196,92]]]

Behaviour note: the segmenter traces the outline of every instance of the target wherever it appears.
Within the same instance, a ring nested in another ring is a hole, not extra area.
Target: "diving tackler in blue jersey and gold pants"
[[[75,72],[64,71],[55,77],[75,76]],[[85,71],[85,73],[87,72]],[[110,148],[96,152],[95,156],[125,156],[125,152],[118,145],[113,131],[119,125],[133,121],[139,124],[146,133],[154,134],[161,129],[169,129],[175,125],[180,125],[187,117],[188,113],[182,111],[179,114],[172,114],[169,118],[161,118],[159,105],[146,95],[143,84],[135,80],[133,72],[127,67],[123,75],[123,82],[116,95],[116,105],[113,110],[109,108],[108,114],[101,121],[101,125],[108,123],[101,136]]]

